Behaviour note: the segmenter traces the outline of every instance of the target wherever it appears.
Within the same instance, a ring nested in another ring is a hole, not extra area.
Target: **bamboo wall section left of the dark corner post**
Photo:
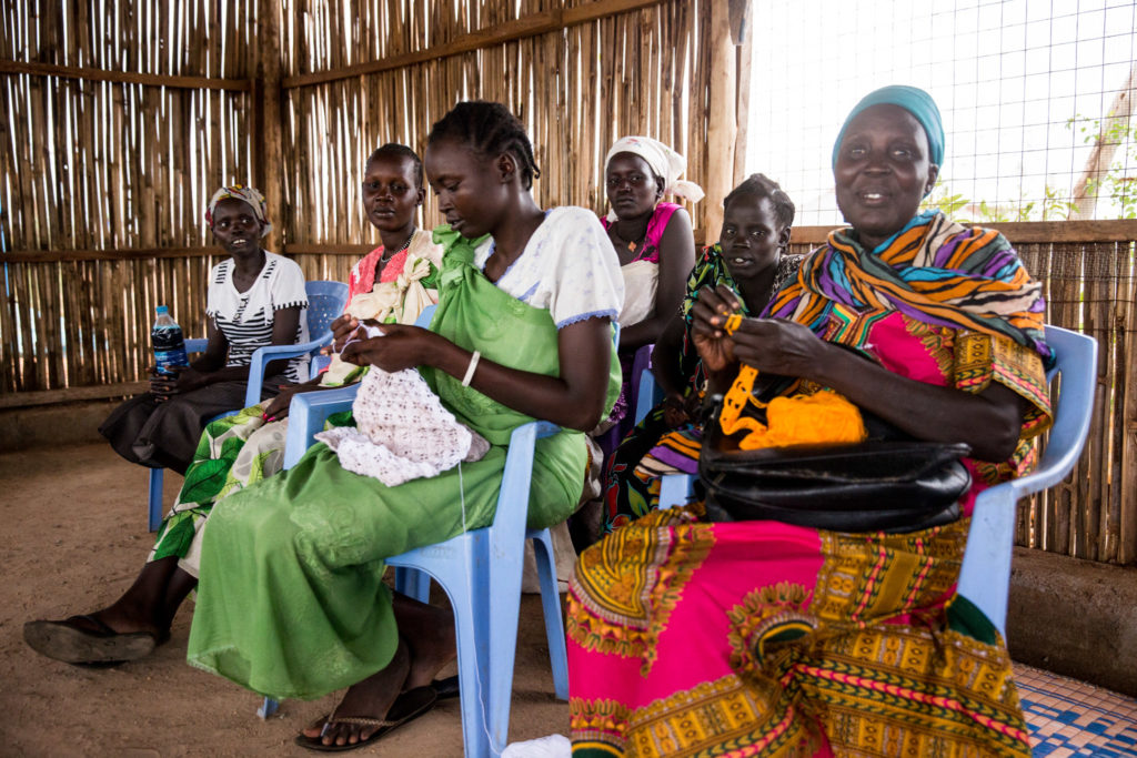
[[[222,181],[247,181],[255,17],[193,0],[0,5],[3,392],[140,377],[157,303],[204,335],[201,211]]]

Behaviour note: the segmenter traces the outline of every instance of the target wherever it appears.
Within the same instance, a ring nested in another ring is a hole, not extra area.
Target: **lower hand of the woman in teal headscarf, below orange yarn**
[[[781,318],[744,318],[733,336],[735,356],[760,372],[820,380],[831,348],[804,324]]]

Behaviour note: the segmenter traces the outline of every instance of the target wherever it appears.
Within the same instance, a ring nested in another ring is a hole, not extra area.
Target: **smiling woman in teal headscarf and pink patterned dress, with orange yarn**
[[[869,94],[833,147],[849,227],[758,318],[700,292],[691,334],[729,398],[719,423],[748,447],[856,440],[861,410],[968,443],[964,517],[845,534],[706,523],[696,503],[617,530],[581,556],[568,600],[578,758],[1030,755],[1006,647],[954,590],[976,495],[1034,463],[1052,355],[1007,241],[920,213],[943,160],[930,95]],[[758,424],[744,406],[762,375],[791,378]]]

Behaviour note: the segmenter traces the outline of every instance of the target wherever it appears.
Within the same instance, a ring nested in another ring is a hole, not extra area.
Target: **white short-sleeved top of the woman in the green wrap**
[[[492,251],[492,240],[478,245],[474,264],[484,270]],[[546,211],[545,223],[497,285],[548,310],[557,328],[587,318],[616,320],[624,303],[616,251],[596,214],[575,206]]]

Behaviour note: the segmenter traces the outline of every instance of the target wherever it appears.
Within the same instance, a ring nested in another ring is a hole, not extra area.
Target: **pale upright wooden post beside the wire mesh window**
[[[730,3],[711,0],[711,111],[707,114],[707,176],[702,203],[704,239],[719,239],[722,199],[733,189],[738,132],[738,50],[730,36]]]

